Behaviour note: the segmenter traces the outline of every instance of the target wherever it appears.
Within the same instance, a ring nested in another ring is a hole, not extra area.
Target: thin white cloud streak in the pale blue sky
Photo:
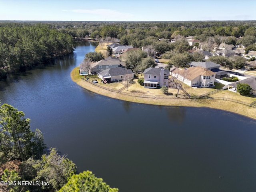
[[[111,10],[111,9],[93,9],[93,10],[88,10],[88,9],[73,9],[73,10],[62,10],[62,11],[68,11],[68,12],[76,12],[76,13],[86,13],[86,14],[95,14],[98,16],[104,16],[108,18],[131,18],[132,14],[128,13],[121,13],[116,10]]]

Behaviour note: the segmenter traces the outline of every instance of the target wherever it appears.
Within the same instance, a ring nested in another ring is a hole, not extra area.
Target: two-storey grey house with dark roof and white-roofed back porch
[[[170,72],[163,68],[147,68],[144,70],[144,88],[168,86]]]

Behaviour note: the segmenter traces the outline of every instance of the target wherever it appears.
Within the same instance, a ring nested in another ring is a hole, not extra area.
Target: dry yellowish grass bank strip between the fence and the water
[[[168,99],[140,98],[140,97],[128,96],[128,95],[124,95],[116,92],[111,92],[103,88],[99,88],[98,86],[94,86],[93,84],[90,84],[88,82],[85,82],[80,78],[78,70],[79,70],[79,67],[76,67],[70,73],[71,79],[76,84],[94,93],[108,96],[111,98],[116,98],[119,100],[125,100],[130,102],[162,105],[162,106],[188,106],[188,107],[215,108],[219,110],[225,110],[228,112],[240,114],[242,116],[246,116],[256,120],[256,108],[252,108],[239,103],[234,103],[231,101],[208,100],[208,99],[194,100],[194,99],[183,99],[183,98],[179,98],[179,99],[177,98],[168,98]]]

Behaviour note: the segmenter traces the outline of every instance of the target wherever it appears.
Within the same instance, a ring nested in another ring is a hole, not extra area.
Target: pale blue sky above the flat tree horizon
[[[256,0],[0,0],[0,20],[256,20]]]

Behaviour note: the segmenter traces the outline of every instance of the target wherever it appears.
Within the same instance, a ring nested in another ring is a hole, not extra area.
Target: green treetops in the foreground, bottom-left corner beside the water
[[[30,119],[11,105],[0,106],[0,170],[15,162],[18,170],[1,172],[0,190],[10,192],[118,192],[92,172],[76,174],[76,165],[56,148],[46,150],[40,130],[30,130]],[[29,181],[34,185],[21,185]],[[42,185],[42,182],[45,185]]]

